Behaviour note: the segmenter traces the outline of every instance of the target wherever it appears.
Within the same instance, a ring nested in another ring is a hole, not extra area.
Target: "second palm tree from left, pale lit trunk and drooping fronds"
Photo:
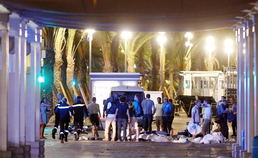
[[[56,42],[55,42],[55,65],[54,65],[54,84],[57,92],[62,92],[59,82],[61,81],[61,65],[63,64],[62,52],[65,48],[65,28],[59,28],[57,32]],[[54,95],[54,94],[53,94]],[[53,97],[54,102],[57,102],[56,97]]]

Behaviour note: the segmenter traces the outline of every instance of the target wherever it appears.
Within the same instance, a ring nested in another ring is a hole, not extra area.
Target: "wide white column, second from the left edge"
[[[9,36],[14,37],[14,53],[10,55],[9,66],[9,91],[8,91],[8,144],[12,147],[19,147],[19,132],[11,132],[19,127],[20,110],[20,70],[21,70],[21,36],[20,17],[16,13],[10,15]],[[12,62],[11,62],[12,57]],[[13,115],[17,117],[13,117]]]

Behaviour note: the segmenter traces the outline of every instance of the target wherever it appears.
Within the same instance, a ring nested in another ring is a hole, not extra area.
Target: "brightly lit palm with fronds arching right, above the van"
[[[135,64],[135,54],[138,52],[138,50],[142,47],[142,45],[151,39],[152,37],[156,36],[153,33],[136,33],[134,36],[130,39],[128,39],[128,45],[127,45],[127,62],[128,62],[128,68],[127,72],[135,72],[134,70],[134,64]],[[121,43],[121,48],[123,50],[125,49],[125,41],[123,40]]]

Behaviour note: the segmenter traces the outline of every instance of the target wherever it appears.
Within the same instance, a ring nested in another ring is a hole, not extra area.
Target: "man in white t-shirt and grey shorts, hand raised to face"
[[[204,110],[204,120],[203,120],[203,128],[202,128],[202,132],[203,132],[203,136],[207,134],[210,134],[210,126],[211,126],[211,115],[212,115],[212,111],[211,111],[211,104],[209,103],[208,99],[204,99],[203,103],[201,104],[202,108],[205,108]]]

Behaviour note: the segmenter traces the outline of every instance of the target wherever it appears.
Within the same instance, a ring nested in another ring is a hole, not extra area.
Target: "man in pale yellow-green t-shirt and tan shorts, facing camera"
[[[156,126],[157,126],[157,131],[160,131],[159,126],[161,126],[161,131],[164,131],[164,127],[163,127],[163,120],[162,120],[162,106],[163,104],[161,103],[161,98],[158,97],[157,98],[157,104],[155,105],[155,113],[156,113],[156,117],[155,117],[155,122],[156,122]]]

